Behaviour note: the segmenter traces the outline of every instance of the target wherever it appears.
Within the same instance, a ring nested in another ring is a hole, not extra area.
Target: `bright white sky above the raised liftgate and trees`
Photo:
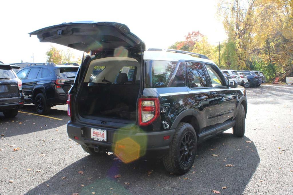
[[[127,25],[147,48],[167,48],[199,30],[211,44],[226,34],[216,16],[216,0],[206,1],[1,1],[0,61],[45,62],[50,43],[28,33],[63,22],[94,20]],[[58,49],[67,47],[52,44]],[[81,51],[73,50],[75,57]]]

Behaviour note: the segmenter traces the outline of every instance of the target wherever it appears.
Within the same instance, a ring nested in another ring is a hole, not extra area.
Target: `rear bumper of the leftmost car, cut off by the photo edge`
[[[23,107],[24,99],[21,93],[19,97],[0,99],[0,112],[3,110],[20,109]]]

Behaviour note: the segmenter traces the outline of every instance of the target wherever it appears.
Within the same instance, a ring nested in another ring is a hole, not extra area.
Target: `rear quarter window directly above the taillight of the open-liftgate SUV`
[[[174,61],[145,61],[145,87],[168,87],[178,62]]]

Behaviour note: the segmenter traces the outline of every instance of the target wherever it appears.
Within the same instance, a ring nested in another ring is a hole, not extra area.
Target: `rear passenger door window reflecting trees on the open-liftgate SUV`
[[[187,62],[188,87],[209,87],[207,75],[200,62]]]

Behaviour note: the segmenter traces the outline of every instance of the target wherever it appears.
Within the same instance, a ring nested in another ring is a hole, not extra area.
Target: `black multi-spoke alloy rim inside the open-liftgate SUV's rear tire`
[[[187,132],[182,140],[180,145],[180,161],[184,166],[188,166],[191,162],[191,159],[194,155],[195,141],[194,136],[191,132]]]

